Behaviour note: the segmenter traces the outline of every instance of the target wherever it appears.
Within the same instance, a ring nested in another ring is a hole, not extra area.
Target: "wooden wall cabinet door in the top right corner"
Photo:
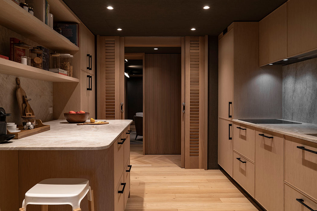
[[[317,49],[317,1],[287,2],[288,57]]]

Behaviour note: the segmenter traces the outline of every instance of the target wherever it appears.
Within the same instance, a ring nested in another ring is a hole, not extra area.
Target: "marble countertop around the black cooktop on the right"
[[[282,119],[282,120],[290,121],[287,119]],[[234,119],[232,121],[236,123],[241,123],[244,125],[250,125],[256,128],[261,128],[267,131],[280,133],[286,136],[300,138],[303,140],[317,143],[317,137],[306,135],[306,133],[308,134],[317,133],[317,125],[315,124],[304,123],[304,122],[301,122],[302,124],[289,124],[289,125],[288,124],[254,124],[250,122],[241,121],[238,119]],[[296,121],[291,121],[291,122],[296,122]]]

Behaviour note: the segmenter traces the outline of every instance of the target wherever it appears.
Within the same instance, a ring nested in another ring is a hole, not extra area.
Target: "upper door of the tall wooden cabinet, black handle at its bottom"
[[[233,29],[219,40],[218,116],[232,120],[233,103]]]

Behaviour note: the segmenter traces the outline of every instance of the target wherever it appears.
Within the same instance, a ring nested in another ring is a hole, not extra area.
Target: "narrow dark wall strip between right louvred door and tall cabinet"
[[[218,37],[208,36],[208,169],[218,169]]]

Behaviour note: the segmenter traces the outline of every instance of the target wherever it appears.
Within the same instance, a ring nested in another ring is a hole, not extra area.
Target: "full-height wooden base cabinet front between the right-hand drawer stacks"
[[[281,211],[284,199],[284,135],[257,128],[255,150],[255,199],[269,211]]]

